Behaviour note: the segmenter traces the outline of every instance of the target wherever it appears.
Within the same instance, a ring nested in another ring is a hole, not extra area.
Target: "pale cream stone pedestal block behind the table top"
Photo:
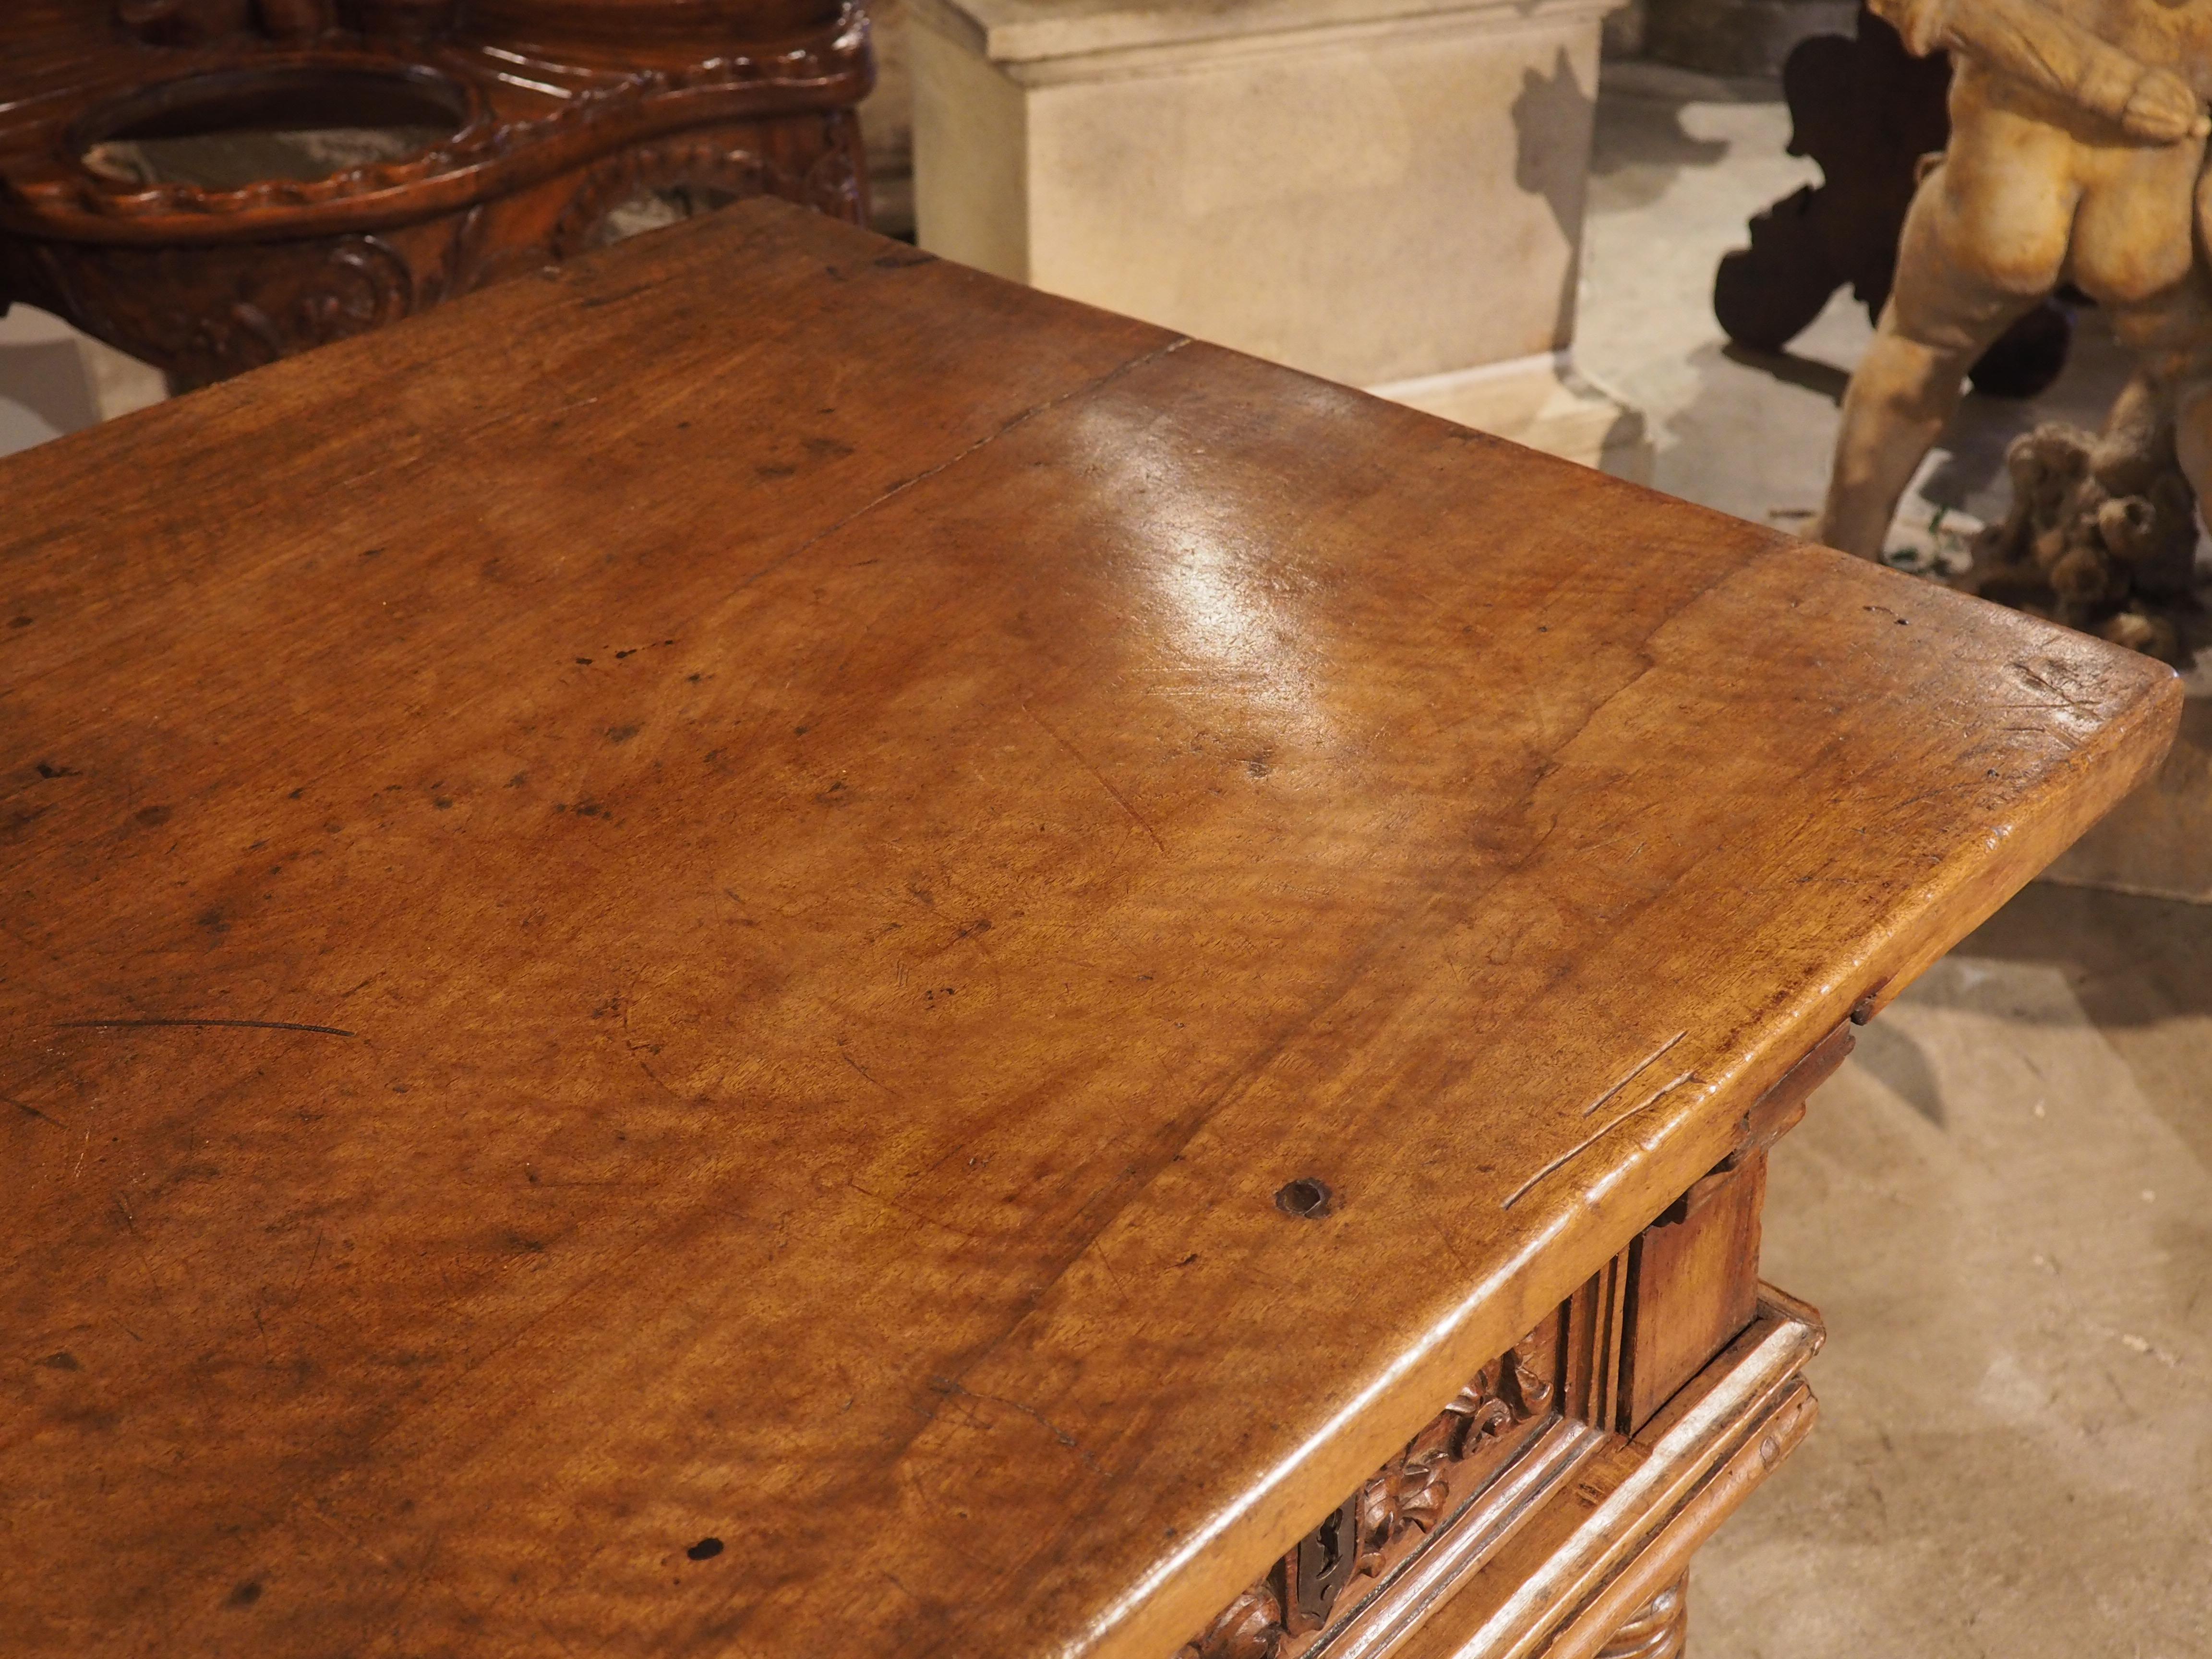
[[[907,0],[920,243],[1639,476],[1579,378],[1613,0]]]

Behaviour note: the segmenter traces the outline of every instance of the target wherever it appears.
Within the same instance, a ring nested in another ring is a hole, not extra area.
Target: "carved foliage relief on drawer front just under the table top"
[[[1495,1473],[1511,1431],[1548,1416],[1559,1347],[1551,1321],[1484,1365],[1396,1458],[1332,1509],[1267,1577],[1230,1601],[1177,1659],[1279,1659],[1329,1624],[1360,1577],[1376,1577],[1396,1546],[1431,1533],[1480,1475]],[[1553,1376],[1546,1376],[1546,1369]]]

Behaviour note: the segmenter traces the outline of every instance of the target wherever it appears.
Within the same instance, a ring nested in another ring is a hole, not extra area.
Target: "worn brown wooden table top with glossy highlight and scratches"
[[[13,1655],[1166,1659],[2179,712],[776,204],[0,498]]]

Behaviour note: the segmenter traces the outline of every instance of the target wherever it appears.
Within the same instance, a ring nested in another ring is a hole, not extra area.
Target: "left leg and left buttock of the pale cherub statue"
[[[2057,285],[2073,190],[2059,157],[2033,159],[2042,179],[1966,155],[1920,181],[1896,288],[1843,398],[1816,542],[1882,555],[1898,498],[1958,409],[1966,369]]]

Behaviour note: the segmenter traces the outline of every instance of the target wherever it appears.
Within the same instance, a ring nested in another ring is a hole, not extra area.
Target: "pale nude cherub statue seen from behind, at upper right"
[[[2108,529],[2126,531],[2124,513],[2104,507],[2143,467],[2172,471],[2179,462],[2197,495],[2212,500],[2212,272],[2199,241],[2212,212],[2203,177],[2212,7],[1871,4],[1913,53],[1951,53],[1951,146],[1922,177],[1905,219],[1896,288],[1843,400],[1814,540],[1880,557],[1898,498],[1955,411],[1966,367],[2062,281],[2110,314],[2137,378],[2101,440],[2077,434],[2084,445],[2073,460],[2015,445],[2015,491],[2039,487],[2051,495],[2044,518],[2059,524],[2039,531],[2051,542],[2046,568],[2068,551],[2101,557],[2104,544],[2086,533],[2068,549],[2062,520],[2095,524],[2104,513]],[[2093,453],[2097,445],[2110,453]],[[2053,493],[2053,480],[2064,489]],[[2194,515],[2183,518],[2194,546]],[[2028,546],[2031,529],[2022,522],[2008,533]],[[2166,526],[2152,538],[2168,564],[2181,535]],[[2185,551],[2181,564],[2185,582]],[[2084,593],[2093,582],[2126,580],[2112,560],[2099,571],[2081,575]],[[2064,582],[2057,586],[2064,597]],[[2093,615],[2095,602],[2086,604]]]

